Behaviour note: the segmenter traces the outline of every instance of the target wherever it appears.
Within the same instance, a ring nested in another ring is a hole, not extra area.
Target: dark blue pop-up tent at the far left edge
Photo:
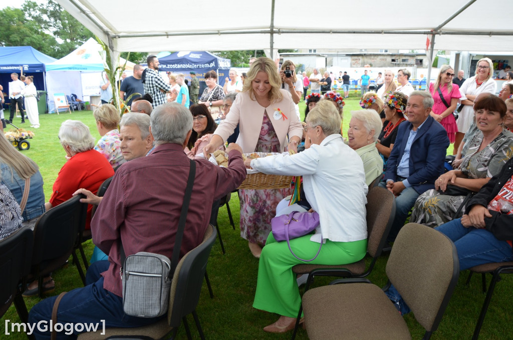
[[[44,90],[45,64],[55,60],[30,46],[0,47],[0,84],[4,87],[4,92],[8,92],[11,73],[16,72],[19,76],[22,71],[23,74],[34,77],[34,85],[38,90]]]

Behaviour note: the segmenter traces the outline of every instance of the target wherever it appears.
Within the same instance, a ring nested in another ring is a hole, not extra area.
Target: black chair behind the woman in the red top
[[[42,297],[43,278],[52,271],[61,268],[70,255],[82,281],[86,277],[74,252],[80,238],[80,230],[84,229],[87,204],[81,203],[84,195],[76,195],[69,200],[52,207],[37,220],[34,229],[34,250],[32,253],[32,270],[34,278],[38,278],[40,296]]]

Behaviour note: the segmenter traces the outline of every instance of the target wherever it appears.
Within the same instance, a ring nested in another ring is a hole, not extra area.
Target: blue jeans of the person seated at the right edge
[[[460,270],[484,263],[513,261],[513,250],[506,241],[498,240],[486,229],[465,228],[461,218],[435,228],[454,242],[460,260]]]

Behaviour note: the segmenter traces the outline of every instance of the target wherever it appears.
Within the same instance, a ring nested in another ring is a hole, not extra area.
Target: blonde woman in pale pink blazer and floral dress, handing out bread
[[[303,127],[295,114],[290,93],[280,89],[281,78],[274,62],[258,58],[247,73],[242,92],[236,97],[226,120],[215,130],[204,153],[212,153],[239,124],[237,139],[244,153],[297,151]],[[271,218],[290,188],[240,190],[241,236],[248,240],[251,253],[259,258],[271,231]]]

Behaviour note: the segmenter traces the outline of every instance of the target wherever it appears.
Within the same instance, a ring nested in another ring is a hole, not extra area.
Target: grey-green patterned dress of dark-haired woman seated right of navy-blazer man
[[[513,137],[508,131],[503,129],[494,141],[478,152],[482,141],[483,133],[478,131],[468,142],[468,153],[460,166],[460,170],[468,178],[496,176],[500,173],[502,166],[513,157]],[[435,189],[428,190],[415,202],[410,222],[433,228],[449,222],[465,213],[465,207],[463,207],[459,216],[454,216],[464,200],[465,196],[442,195]]]

